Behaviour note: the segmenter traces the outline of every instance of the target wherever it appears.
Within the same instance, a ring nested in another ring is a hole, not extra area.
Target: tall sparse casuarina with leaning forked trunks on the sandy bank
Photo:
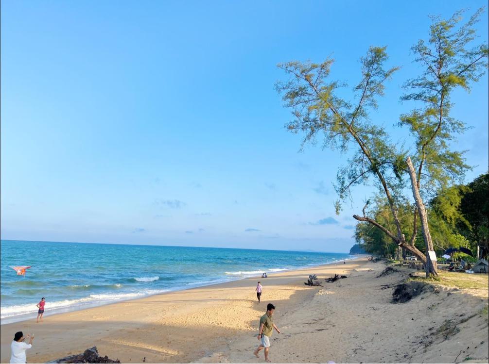
[[[459,21],[459,13],[448,21],[434,20],[430,44],[442,44],[439,45],[442,47],[439,57],[447,60],[445,65],[442,64],[442,73],[438,78],[442,94],[437,88],[437,81],[429,80],[429,72],[433,72],[433,65],[428,64],[427,71],[420,78],[410,80],[406,84],[407,88],[418,87],[420,90],[405,95],[404,100],[431,102],[431,107],[427,106],[425,110],[415,110],[412,114],[401,117],[401,124],[409,125],[411,133],[417,138],[417,153],[413,158],[418,174],[415,176],[415,183],[412,184],[418,191],[423,174],[429,175],[425,184],[429,188],[445,185],[450,178],[460,176],[467,168],[463,155],[450,151],[448,147],[450,133],[463,130],[461,121],[456,121],[447,114],[451,106],[448,96],[457,86],[468,88],[469,83],[477,81],[487,67],[487,45],[467,50],[467,44],[475,34],[473,24],[480,13],[481,11],[477,12],[457,31],[453,28]],[[443,45],[447,42],[450,45]],[[419,49],[424,57],[423,44],[424,42],[420,41],[413,49]],[[456,55],[452,55],[454,53]],[[289,80],[277,82],[276,88],[283,95],[285,106],[293,110],[293,120],[287,124],[287,128],[294,133],[304,133],[302,145],[321,136],[324,147],[339,148],[343,151],[349,148],[354,151],[346,166],[340,168],[337,174],[335,188],[339,199],[336,211],[339,212],[341,202],[350,196],[353,186],[371,181],[387,201],[394,222],[393,227],[386,227],[376,221],[375,217],[366,216],[368,214],[365,208],[362,216],[353,217],[381,230],[400,247],[417,256],[426,266],[430,266],[432,273],[436,272],[436,265],[433,268],[433,264],[426,261],[426,256],[414,244],[417,234],[416,220],[411,237],[406,239],[399,217],[400,206],[406,201],[407,183],[403,178],[403,172],[407,170],[406,153],[398,150],[380,123],[370,118],[370,111],[378,107],[377,100],[383,95],[386,81],[398,70],[398,67],[386,67],[387,60],[386,47],[369,48],[366,56],[361,59],[361,77],[353,95],[355,102],[342,98],[338,88],[343,84],[330,80],[333,65],[331,58],[322,63],[293,61],[279,64],[278,67],[289,75]],[[445,69],[448,70],[446,74]],[[440,112],[436,106],[437,102],[441,102]],[[427,125],[426,120],[422,123],[419,115],[423,115],[424,119],[429,118],[432,124],[438,116],[440,125]],[[424,170],[427,172],[423,172]],[[419,201],[422,203],[421,196]],[[414,208],[414,213],[418,213],[417,208]],[[429,235],[428,229],[426,232]],[[433,249],[427,246],[427,250]]]

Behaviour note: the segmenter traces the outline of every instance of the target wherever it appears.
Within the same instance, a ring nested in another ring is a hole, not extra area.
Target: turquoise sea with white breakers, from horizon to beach
[[[0,324],[352,259],[349,254],[0,241]],[[25,276],[11,266],[31,265]]]

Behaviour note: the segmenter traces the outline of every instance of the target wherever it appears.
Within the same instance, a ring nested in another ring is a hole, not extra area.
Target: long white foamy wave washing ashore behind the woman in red
[[[83,306],[95,306],[106,303],[113,303],[117,301],[127,301],[133,300],[135,298],[142,298],[145,296],[155,295],[159,293],[168,292],[168,289],[148,289],[141,292],[128,292],[128,293],[117,293],[117,294],[91,294],[88,297],[83,297],[75,300],[63,300],[63,301],[54,301],[47,302],[45,309],[47,312],[49,311],[59,311],[61,309],[77,309]],[[29,313],[36,313],[38,308],[36,307],[36,303],[29,304],[18,304],[12,306],[3,306],[0,307],[0,318],[4,319],[7,317],[14,317],[19,315],[25,315]]]

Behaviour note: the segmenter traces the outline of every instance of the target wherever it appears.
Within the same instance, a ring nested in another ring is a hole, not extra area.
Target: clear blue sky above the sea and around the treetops
[[[1,1],[1,238],[347,252],[369,187],[334,214],[346,157],[284,124],[284,61],[359,58],[386,45],[402,66],[372,119],[413,105],[410,47],[428,15],[484,1]],[[477,25],[488,34],[487,13]],[[473,126],[455,146],[488,169],[488,77],[453,97]]]

